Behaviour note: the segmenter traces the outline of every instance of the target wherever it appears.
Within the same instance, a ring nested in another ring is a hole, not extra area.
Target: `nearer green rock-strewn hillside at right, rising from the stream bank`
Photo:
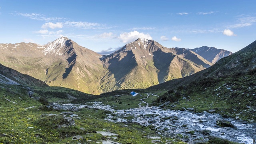
[[[256,121],[255,100],[254,70],[194,81],[187,86],[169,90],[154,101],[154,104],[170,101],[171,104],[165,107],[176,110],[182,107],[194,108],[196,112],[215,110],[215,113],[225,117],[254,122]]]

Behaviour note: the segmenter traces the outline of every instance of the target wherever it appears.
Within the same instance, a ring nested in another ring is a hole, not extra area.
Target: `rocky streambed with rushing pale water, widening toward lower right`
[[[248,123],[234,118],[223,118],[220,114],[208,112],[166,110],[156,106],[149,107],[148,105],[127,110],[114,110],[111,106],[104,105],[102,102],[93,102],[90,106],[77,104],[63,104],[62,106],[74,109],[97,108],[108,110],[112,112],[105,118],[108,121],[137,122],[143,126],[150,126],[158,134],[179,138],[189,144],[207,141],[208,136],[252,144],[252,138],[256,136],[256,123]],[[132,119],[127,120],[127,117],[132,117]],[[218,126],[217,124],[221,121],[226,121],[232,124],[233,127]]]

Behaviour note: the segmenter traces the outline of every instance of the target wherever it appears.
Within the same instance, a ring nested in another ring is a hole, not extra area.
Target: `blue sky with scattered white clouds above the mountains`
[[[0,0],[0,43],[61,36],[102,54],[140,37],[236,52],[256,40],[256,0]]]

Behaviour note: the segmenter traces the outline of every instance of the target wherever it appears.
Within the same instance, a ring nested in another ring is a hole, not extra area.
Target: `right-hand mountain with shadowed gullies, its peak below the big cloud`
[[[139,38],[102,58],[107,77],[103,89],[147,88],[194,74],[211,63],[190,50],[169,49],[154,40]],[[108,84],[108,85],[106,85]]]

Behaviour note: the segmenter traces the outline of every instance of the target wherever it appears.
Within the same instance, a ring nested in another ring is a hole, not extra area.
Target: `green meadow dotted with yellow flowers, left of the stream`
[[[51,88],[48,92],[42,88],[34,88],[33,96],[44,96],[52,99],[54,90]],[[44,91],[44,92],[42,92]],[[63,89],[59,89],[63,92]],[[38,93],[37,93],[38,92]],[[43,94],[43,95],[42,95]],[[63,93],[64,94],[64,93]],[[142,98],[142,96],[132,98]],[[8,99],[8,100],[7,100]],[[9,101],[10,100],[10,101]],[[61,98],[60,98],[61,100]],[[64,98],[66,100],[66,98]],[[103,100],[103,99],[102,99]],[[124,103],[128,102],[127,96],[122,96]],[[133,100],[131,100],[133,101]],[[131,103],[131,102],[130,102]],[[137,102],[130,106],[135,107]],[[118,104],[116,104],[118,105]],[[126,106],[126,105],[125,105]],[[128,106],[128,105],[127,105]],[[32,108],[30,108],[32,107]],[[148,144],[153,140],[150,136],[160,136],[149,127],[140,126],[135,123],[113,123],[104,120],[105,110],[96,110],[84,108],[74,114],[82,119],[74,119],[76,126],[66,128],[57,128],[57,124],[62,124],[63,118],[60,111],[45,109],[45,106],[29,98],[27,89],[23,86],[0,85],[0,143],[2,144],[26,144],[26,143],[56,143],[56,144],[96,144],[102,143],[102,140],[111,139],[122,144]],[[138,105],[137,105],[138,107]],[[119,108],[122,108],[120,106]],[[42,114],[56,114],[57,116],[41,116]],[[80,129],[82,128],[82,129]],[[96,131],[109,131],[118,134],[116,138],[108,138],[97,134]],[[72,136],[80,135],[84,139],[72,140]],[[172,142],[173,144],[182,144],[183,142],[173,141],[171,138],[162,137],[162,142]]]

